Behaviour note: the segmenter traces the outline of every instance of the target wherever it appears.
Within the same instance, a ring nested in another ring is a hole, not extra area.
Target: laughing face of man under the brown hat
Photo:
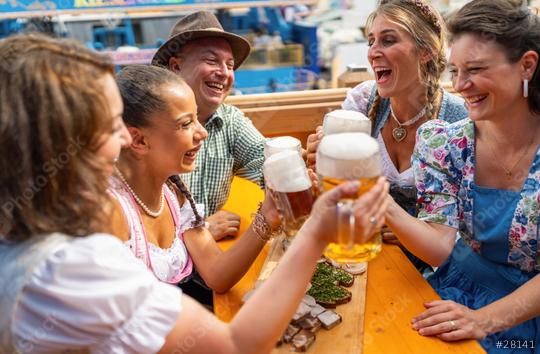
[[[234,57],[229,42],[223,38],[189,42],[177,58],[171,58],[170,67],[195,93],[202,121],[215,112],[234,85]]]

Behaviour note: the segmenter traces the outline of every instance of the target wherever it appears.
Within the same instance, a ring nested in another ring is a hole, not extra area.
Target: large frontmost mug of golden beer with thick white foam
[[[322,138],[317,150],[317,174],[322,191],[357,180],[358,194],[367,192],[381,175],[381,157],[377,140],[365,133],[342,133]],[[339,263],[369,261],[381,251],[381,233],[359,243],[352,214],[354,199],[342,199],[337,205],[337,243],[330,243],[324,255]]]

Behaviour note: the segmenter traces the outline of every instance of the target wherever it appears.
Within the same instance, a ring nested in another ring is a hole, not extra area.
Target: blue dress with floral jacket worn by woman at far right
[[[538,274],[540,150],[521,191],[480,187],[474,182],[474,132],[470,119],[425,124],[417,132],[413,167],[418,218],[451,226],[461,236],[429,282],[443,299],[479,309]],[[540,317],[490,335],[480,344],[490,354],[538,350],[496,346],[497,341],[512,340],[535,341],[538,346]]]

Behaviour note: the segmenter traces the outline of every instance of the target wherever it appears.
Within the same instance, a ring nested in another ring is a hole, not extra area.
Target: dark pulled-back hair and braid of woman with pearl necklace
[[[167,86],[180,85],[191,90],[180,76],[159,66],[130,65],[118,73],[116,80],[124,101],[123,119],[128,127],[148,127],[152,115],[168,110],[168,103],[162,97]],[[168,182],[178,188],[193,209],[195,220],[192,226],[201,226],[204,219],[182,179],[175,175],[169,177]]]

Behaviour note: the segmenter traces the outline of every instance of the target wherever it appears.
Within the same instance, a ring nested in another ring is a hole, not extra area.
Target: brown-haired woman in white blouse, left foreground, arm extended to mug
[[[337,201],[358,184],[319,198],[272,276],[222,323],[99,233],[114,161],[131,143],[110,60],[32,35],[1,41],[0,53],[0,351],[269,352],[333,240]],[[380,226],[370,216],[384,220],[386,191],[380,179],[355,202],[360,238]]]

